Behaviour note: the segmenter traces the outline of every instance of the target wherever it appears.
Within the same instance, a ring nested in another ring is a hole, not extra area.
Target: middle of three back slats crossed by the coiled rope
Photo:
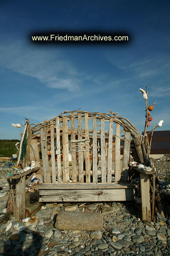
[[[78,113],[78,140],[82,140],[82,113]],[[79,171],[79,182],[84,182],[83,175],[83,145],[78,146],[78,171]]]

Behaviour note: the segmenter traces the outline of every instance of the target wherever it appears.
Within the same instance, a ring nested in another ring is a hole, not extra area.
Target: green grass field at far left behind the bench
[[[0,156],[12,157],[12,154],[16,154],[18,149],[15,144],[18,140],[0,140]]]

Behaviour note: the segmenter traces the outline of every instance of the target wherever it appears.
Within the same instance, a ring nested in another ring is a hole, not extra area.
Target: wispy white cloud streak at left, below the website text
[[[21,42],[0,45],[0,65],[20,74],[37,78],[50,88],[78,90],[82,77],[59,51],[37,49]]]

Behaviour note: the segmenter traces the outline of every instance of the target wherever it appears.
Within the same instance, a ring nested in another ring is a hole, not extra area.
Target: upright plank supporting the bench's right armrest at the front
[[[151,204],[150,204],[150,179],[149,175],[140,173],[140,191],[141,191],[141,210],[142,220],[151,221]]]

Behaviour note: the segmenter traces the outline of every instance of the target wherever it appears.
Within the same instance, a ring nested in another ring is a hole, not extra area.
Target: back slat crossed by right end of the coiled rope
[[[85,113],[85,138],[89,138],[89,120],[88,113]],[[89,142],[86,142],[89,145]],[[85,150],[89,150],[89,146],[85,145]],[[85,151],[85,171],[86,171],[86,182],[90,182],[90,154],[89,151]]]

